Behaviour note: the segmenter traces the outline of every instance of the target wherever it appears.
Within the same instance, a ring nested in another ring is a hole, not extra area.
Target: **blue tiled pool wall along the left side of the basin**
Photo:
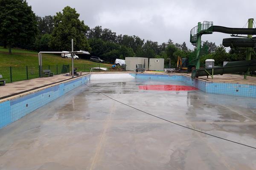
[[[45,88],[41,91],[21,96],[0,103],[0,128],[22,118],[52,100],[64,95],[78,86],[87,83],[90,75],[86,75],[69,82],[64,82]]]

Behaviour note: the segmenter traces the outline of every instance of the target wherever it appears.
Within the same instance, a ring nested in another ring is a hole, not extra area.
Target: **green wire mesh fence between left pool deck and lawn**
[[[90,72],[90,67],[85,64],[74,64],[77,72]],[[42,70],[51,70],[53,75],[66,74],[72,71],[72,65],[43,65]],[[12,66],[0,67],[0,74],[6,82],[17,82],[26,79],[34,79],[40,77],[39,66]]]

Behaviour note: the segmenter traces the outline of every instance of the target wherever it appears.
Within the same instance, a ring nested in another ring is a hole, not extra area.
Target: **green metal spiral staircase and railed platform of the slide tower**
[[[190,31],[190,42],[192,45],[197,47],[197,50],[189,56],[189,66],[193,67],[196,65],[198,59],[200,59],[205,54],[208,54],[208,46],[201,40],[202,34],[212,34],[213,22],[204,21],[203,24],[198,23]],[[199,45],[199,48],[198,48]]]

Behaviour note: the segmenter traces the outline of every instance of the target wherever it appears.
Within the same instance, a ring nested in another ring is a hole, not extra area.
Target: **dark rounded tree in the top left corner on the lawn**
[[[0,39],[4,46],[32,44],[37,34],[35,14],[26,0],[0,0]]]

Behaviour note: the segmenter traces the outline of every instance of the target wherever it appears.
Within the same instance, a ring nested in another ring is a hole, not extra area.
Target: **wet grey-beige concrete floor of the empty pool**
[[[164,119],[256,147],[256,99],[143,91],[183,82],[87,85]],[[256,150],[129,108],[85,85],[0,130],[2,170],[254,170]]]

